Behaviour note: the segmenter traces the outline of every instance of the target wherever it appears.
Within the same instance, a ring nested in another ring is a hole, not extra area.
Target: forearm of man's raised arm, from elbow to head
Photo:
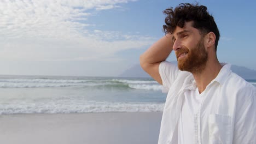
[[[165,61],[172,51],[172,46],[172,35],[166,34],[141,55],[141,65],[143,66],[143,64],[154,64]]]

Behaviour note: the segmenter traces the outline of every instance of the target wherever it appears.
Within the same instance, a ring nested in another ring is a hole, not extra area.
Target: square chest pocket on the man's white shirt
[[[209,143],[231,144],[231,116],[210,114],[208,117]]]

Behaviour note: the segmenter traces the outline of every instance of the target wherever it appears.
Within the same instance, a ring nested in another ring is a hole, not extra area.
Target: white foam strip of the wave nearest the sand
[[[162,112],[164,103],[13,103],[0,105],[0,115],[18,113]]]

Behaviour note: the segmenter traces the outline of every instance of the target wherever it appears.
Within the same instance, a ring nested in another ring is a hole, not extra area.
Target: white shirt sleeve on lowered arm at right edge
[[[256,143],[256,88],[238,91],[233,143]],[[242,96],[242,97],[241,97]]]

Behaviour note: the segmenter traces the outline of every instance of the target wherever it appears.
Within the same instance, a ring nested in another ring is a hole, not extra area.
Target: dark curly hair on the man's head
[[[174,10],[168,8],[163,12],[166,14],[165,24],[162,26],[165,33],[173,33],[176,26],[184,27],[185,22],[193,21],[193,27],[199,29],[201,35],[213,32],[216,35],[215,50],[217,51],[219,41],[219,29],[212,15],[204,5],[181,3]]]

